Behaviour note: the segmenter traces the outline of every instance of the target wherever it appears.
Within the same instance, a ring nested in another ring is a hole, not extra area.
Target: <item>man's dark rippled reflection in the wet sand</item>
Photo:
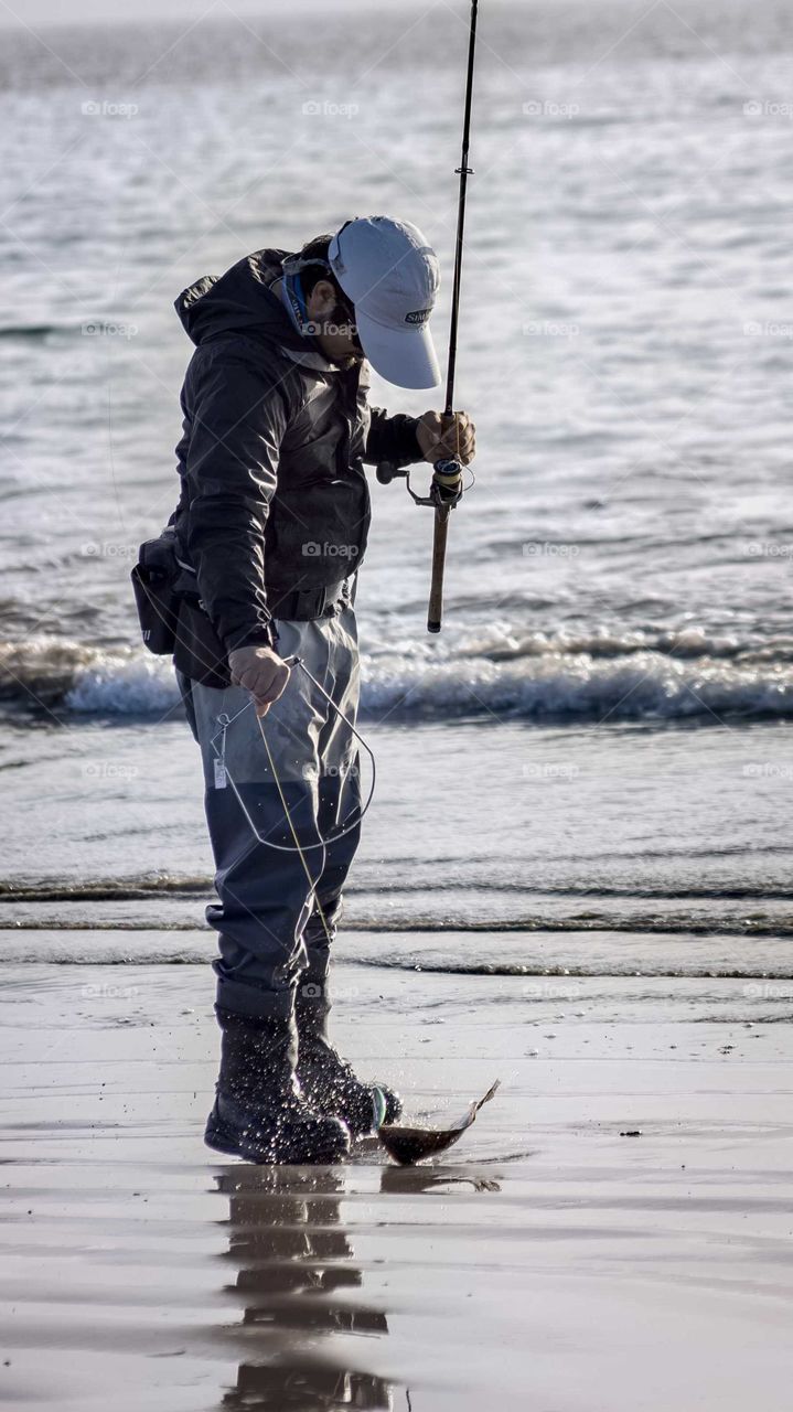
[[[340,1224],[343,1180],[327,1168],[265,1166],[236,1166],[216,1180],[229,1196],[227,1258],[238,1271],[229,1288],[243,1296],[251,1347],[223,1408],[389,1412],[392,1384],[317,1347],[333,1334],[388,1333],[381,1310],[347,1293],[363,1278]]]

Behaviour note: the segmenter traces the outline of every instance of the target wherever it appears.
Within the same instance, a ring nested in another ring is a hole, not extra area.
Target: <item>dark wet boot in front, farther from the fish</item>
[[[205,1142],[246,1162],[339,1162],[350,1134],[306,1103],[295,1077],[293,1019],[251,1019],[216,1007],[220,1075]]]

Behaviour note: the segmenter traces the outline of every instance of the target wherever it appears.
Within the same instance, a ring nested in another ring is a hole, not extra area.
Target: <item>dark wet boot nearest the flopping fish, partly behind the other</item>
[[[363,1137],[380,1123],[394,1123],[402,1100],[382,1083],[363,1083],[327,1038],[330,1004],[325,987],[298,986],[298,1080],[316,1113],[340,1118],[353,1137]],[[378,1097],[380,1096],[380,1097]]]

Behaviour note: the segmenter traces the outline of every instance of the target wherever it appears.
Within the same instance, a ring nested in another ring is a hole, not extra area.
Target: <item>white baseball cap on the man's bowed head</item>
[[[418,226],[356,216],[333,236],[327,260],[356,306],[358,339],[375,371],[398,387],[435,387],[440,369],[428,321],[440,267]]]

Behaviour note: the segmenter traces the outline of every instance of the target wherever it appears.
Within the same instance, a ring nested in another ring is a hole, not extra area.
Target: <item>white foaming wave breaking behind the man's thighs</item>
[[[492,630],[364,654],[363,668],[361,709],[370,719],[715,723],[793,716],[790,638],[739,642],[694,630],[515,637]],[[169,659],[55,637],[0,644],[0,699],[86,716],[162,717],[179,705]]]

